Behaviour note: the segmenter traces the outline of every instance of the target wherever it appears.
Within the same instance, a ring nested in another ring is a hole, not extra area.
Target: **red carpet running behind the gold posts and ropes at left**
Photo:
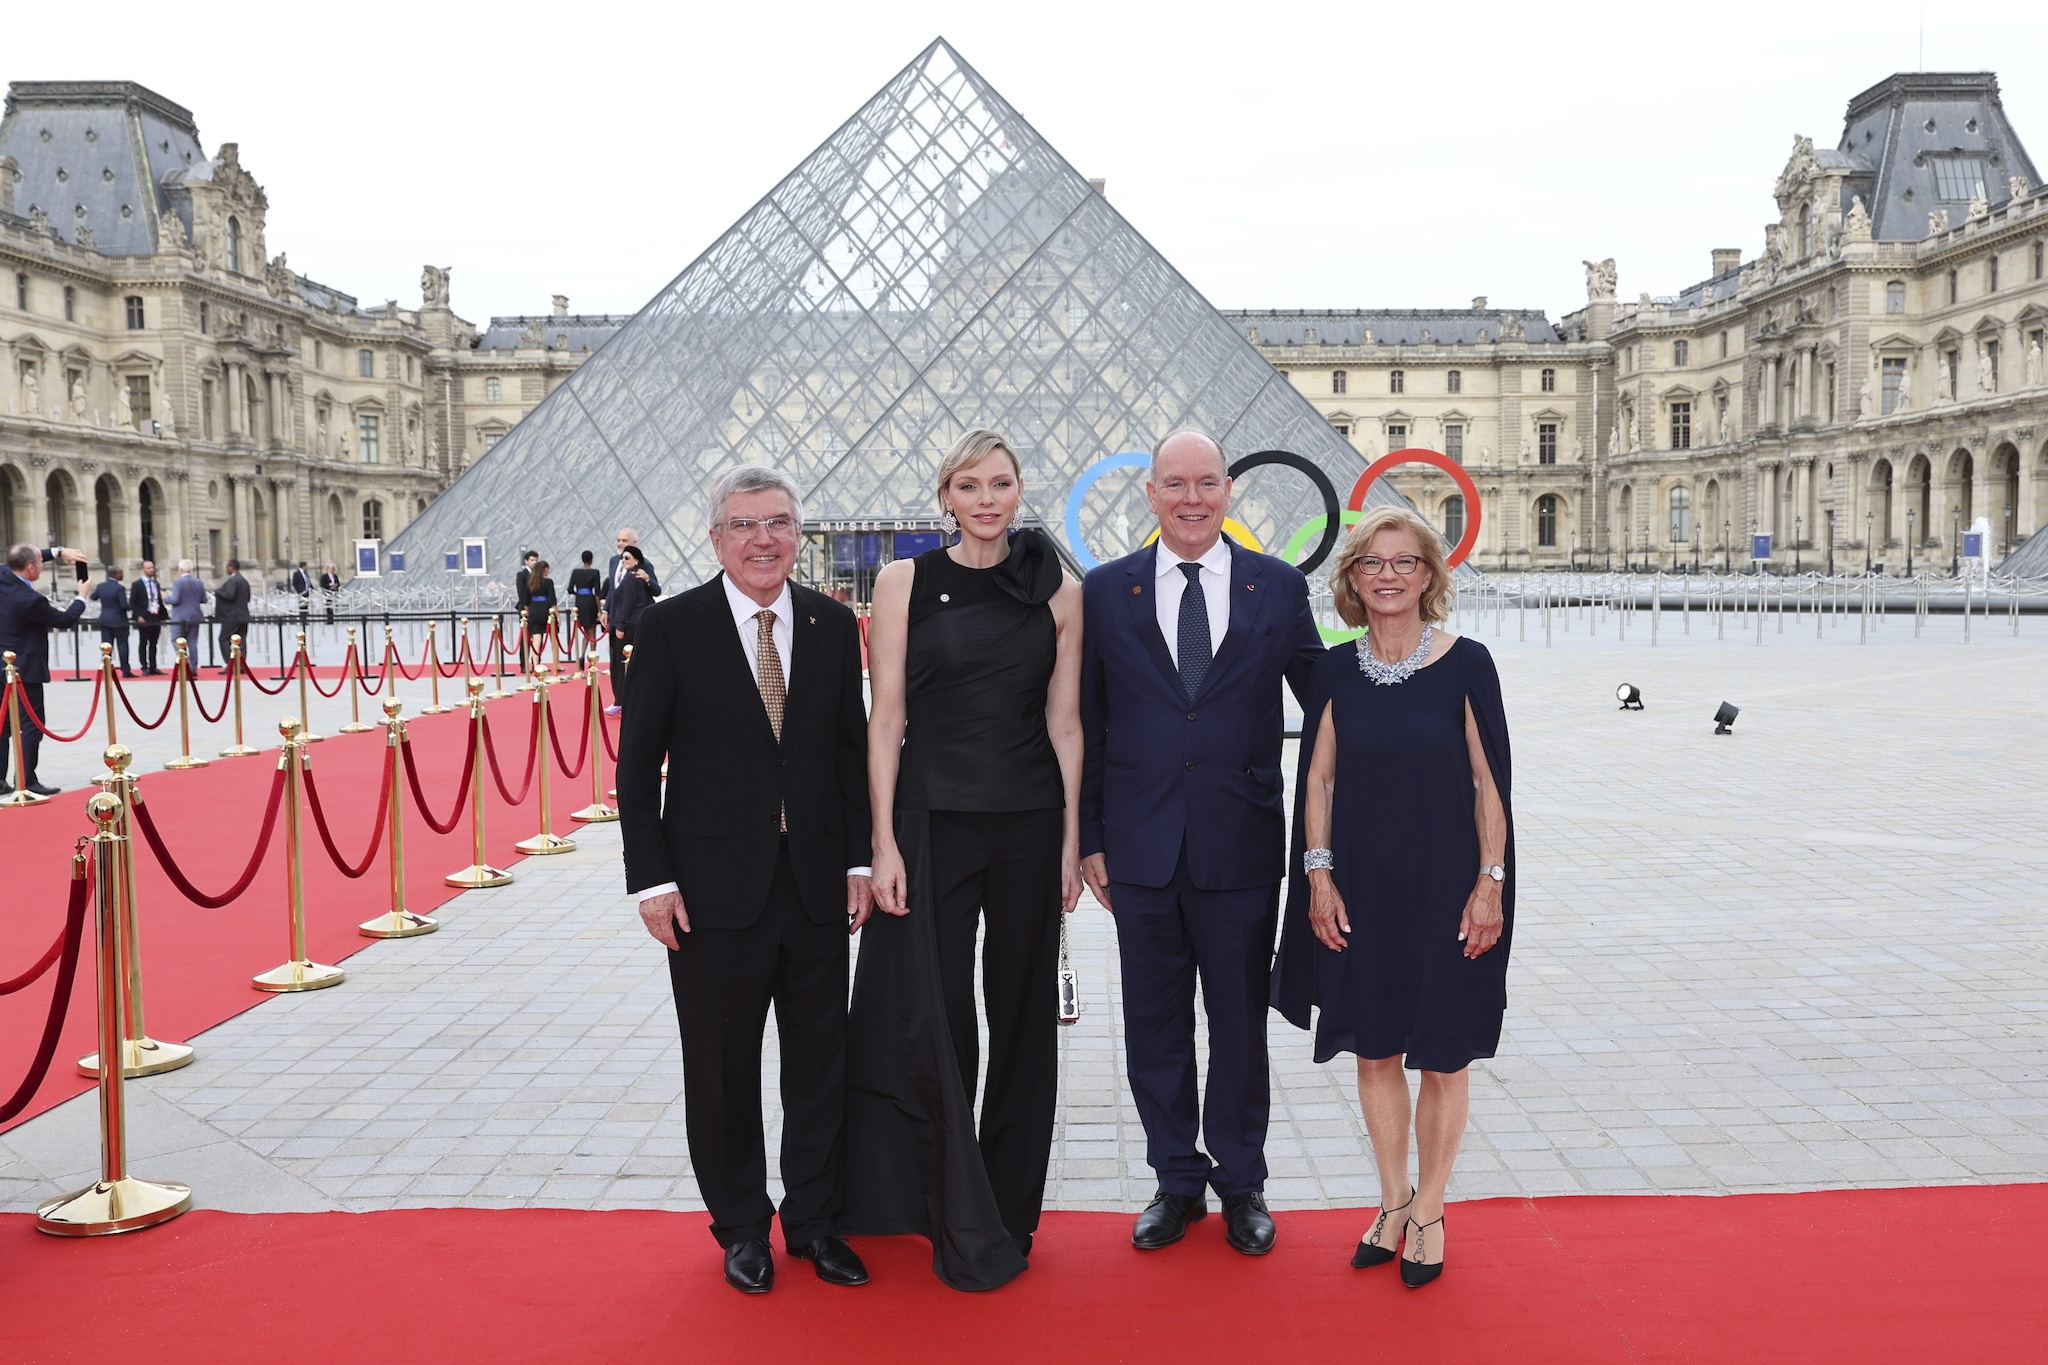
[[[584,718],[582,684],[553,692],[555,726],[563,749],[575,743]],[[444,702],[461,692],[457,684],[442,688]],[[244,696],[250,714],[250,743],[276,739],[274,718],[287,714],[287,698]],[[408,706],[408,710],[412,710]],[[377,704],[365,698],[365,718],[379,718]],[[532,726],[532,698],[520,694],[489,704],[492,741],[506,769],[506,784],[518,790],[520,763],[526,757],[526,735]],[[256,716],[264,716],[258,726]],[[616,720],[614,735],[616,735]],[[434,819],[446,819],[455,806],[455,786],[463,772],[469,716],[455,710],[444,716],[414,716],[408,724],[420,786],[426,790]],[[94,741],[94,751],[96,751]],[[311,747],[313,778],[319,784],[334,841],[344,857],[360,857],[369,847],[371,814],[383,778],[383,729],[362,735],[330,735]],[[571,751],[573,753],[573,751]],[[178,857],[184,874],[199,890],[225,890],[256,847],[264,800],[276,772],[279,751],[260,757],[213,759],[209,767],[188,772],[158,772],[141,778],[143,800],[156,825]],[[403,786],[403,774],[399,774]],[[612,784],[612,767],[604,763],[604,786]],[[72,788],[55,800],[18,810],[0,810],[0,866],[6,868],[6,892],[0,894],[0,980],[29,968],[63,925],[63,898],[70,882],[70,851],[78,835],[92,829],[86,819],[90,788]],[[555,833],[575,837],[569,810],[590,804],[588,769],[573,782],[553,776]],[[514,870],[520,855],[512,845],[539,829],[539,778],[526,802],[516,810],[500,800],[489,774],[483,778],[485,839],[496,866]],[[389,849],[377,853],[375,866],[360,880],[346,880],[334,870],[319,845],[311,819],[303,817],[305,853],[305,921],[307,952],[313,962],[340,962],[369,948],[375,939],[356,933],[356,925],[389,909]],[[150,1033],[166,1042],[188,1042],[195,1033],[252,1009],[270,999],[250,984],[250,976],[266,972],[289,958],[285,929],[285,819],[270,843],[264,868],[240,900],[219,911],[207,911],[164,878],[147,845],[135,851],[137,896],[141,905],[143,1007]],[[406,804],[406,896],[408,909],[432,913],[457,894],[440,878],[469,866],[469,814],[455,833],[436,835],[412,806]],[[623,882],[621,882],[623,888]],[[508,886],[506,892],[512,888]],[[485,892],[489,894],[489,892]],[[621,913],[627,911],[621,890]],[[408,943],[391,943],[387,952],[406,952]],[[49,1009],[49,976],[0,997],[0,1097],[20,1085],[23,1070],[35,1054]],[[16,1124],[78,1095],[92,1083],[78,1074],[78,1058],[94,1052],[92,1001],[92,931],[78,970],[78,988],[66,1021],[63,1042],[49,1076],[35,1101]],[[348,990],[344,980],[336,990]],[[289,1009],[289,1005],[285,1005]],[[0,1130],[12,1128],[0,1126]]]

